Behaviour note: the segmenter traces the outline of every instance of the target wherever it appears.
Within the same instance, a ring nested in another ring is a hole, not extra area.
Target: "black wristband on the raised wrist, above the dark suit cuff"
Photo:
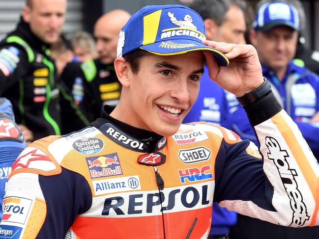
[[[240,103],[240,105],[244,107],[261,99],[264,95],[266,95],[269,92],[269,90],[271,90],[271,85],[268,82],[268,80],[264,77],[263,83],[260,86],[244,94],[241,97],[237,97],[237,100]]]

